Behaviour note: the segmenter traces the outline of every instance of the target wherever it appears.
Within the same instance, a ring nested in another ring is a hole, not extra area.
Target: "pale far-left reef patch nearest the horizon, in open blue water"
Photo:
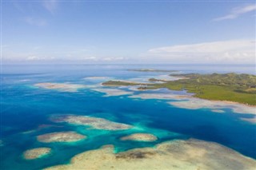
[[[86,88],[86,85],[76,85],[76,84],[67,84],[67,83],[38,83],[34,86],[43,88],[43,89],[57,89],[63,92],[77,92],[78,89]]]

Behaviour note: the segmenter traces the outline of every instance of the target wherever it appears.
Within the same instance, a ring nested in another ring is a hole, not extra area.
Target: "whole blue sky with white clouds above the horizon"
[[[2,63],[255,64],[255,1],[1,1]]]

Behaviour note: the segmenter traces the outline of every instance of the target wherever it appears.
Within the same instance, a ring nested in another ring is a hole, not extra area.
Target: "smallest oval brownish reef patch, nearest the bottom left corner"
[[[24,159],[34,160],[49,155],[51,148],[32,148],[23,153]]]

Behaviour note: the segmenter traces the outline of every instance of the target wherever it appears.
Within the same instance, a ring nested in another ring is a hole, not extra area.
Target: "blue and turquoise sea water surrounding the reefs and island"
[[[218,142],[256,158],[255,125],[240,119],[252,117],[251,114],[233,113],[228,108],[225,109],[226,113],[212,113],[210,109],[179,109],[164,100],[133,99],[128,95],[104,97],[105,93],[94,91],[94,86],[98,88],[100,80],[84,79],[95,76],[129,79],[165,74],[126,70],[141,68],[178,69],[182,73],[254,73],[254,65],[3,65],[0,169],[39,169],[67,164],[72,156],[104,144],[114,144],[115,152],[120,152],[190,137]],[[69,82],[89,86],[79,89],[77,93],[69,93],[34,87],[39,82]],[[162,93],[166,91],[162,90]],[[60,113],[102,117],[134,125],[134,128],[106,131],[49,120],[51,115]],[[53,126],[38,128],[40,125]],[[23,133],[31,130],[34,131]],[[70,144],[44,144],[36,140],[36,136],[47,132],[68,130],[79,132],[88,138]],[[158,140],[150,143],[118,140],[133,132],[150,132],[158,136]],[[22,152],[26,149],[37,147],[50,147],[53,152],[38,160],[22,158]]]

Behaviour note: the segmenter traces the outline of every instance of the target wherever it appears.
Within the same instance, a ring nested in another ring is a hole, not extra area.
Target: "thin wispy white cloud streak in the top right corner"
[[[214,18],[213,21],[214,22],[219,22],[219,21],[226,20],[226,19],[238,18],[240,15],[249,13],[249,12],[254,11],[254,10],[256,10],[256,5],[255,4],[250,4],[248,6],[235,8],[235,9],[231,10],[230,14],[227,14],[223,17]]]

